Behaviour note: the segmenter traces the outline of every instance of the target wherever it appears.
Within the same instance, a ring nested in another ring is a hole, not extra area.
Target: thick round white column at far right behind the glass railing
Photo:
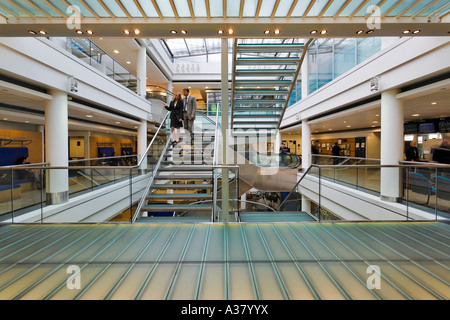
[[[381,165],[398,165],[403,159],[403,102],[396,98],[399,91],[381,93]],[[381,169],[381,198],[397,201],[401,195],[401,170]]]

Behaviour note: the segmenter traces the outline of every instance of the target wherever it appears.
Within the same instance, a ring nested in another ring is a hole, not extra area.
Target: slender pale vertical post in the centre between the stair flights
[[[221,90],[222,90],[222,164],[228,164],[228,39],[221,43]],[[228,221],[229,212],[229,171],[222,170],[222,221]],[[236,195],[237,196],[237,195]]]

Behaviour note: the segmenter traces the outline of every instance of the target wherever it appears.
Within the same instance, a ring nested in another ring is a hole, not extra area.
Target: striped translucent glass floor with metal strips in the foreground
[[[4,225],[0,299],[449,299],[450,225]]]

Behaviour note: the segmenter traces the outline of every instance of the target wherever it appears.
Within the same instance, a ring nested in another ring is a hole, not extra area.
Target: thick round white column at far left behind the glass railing
[[[51,167],[69,165],[69,126],[67,93],[50,90],[52,100],[45,103],[45,159]],[[67,169],[46,170],[48,204],[67,202],[69,176]]]

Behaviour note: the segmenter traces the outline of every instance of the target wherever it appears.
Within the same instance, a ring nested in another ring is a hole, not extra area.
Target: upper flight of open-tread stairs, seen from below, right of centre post
[[[309,43],[234,43],[231,126],[274,133],[295,87]]]

